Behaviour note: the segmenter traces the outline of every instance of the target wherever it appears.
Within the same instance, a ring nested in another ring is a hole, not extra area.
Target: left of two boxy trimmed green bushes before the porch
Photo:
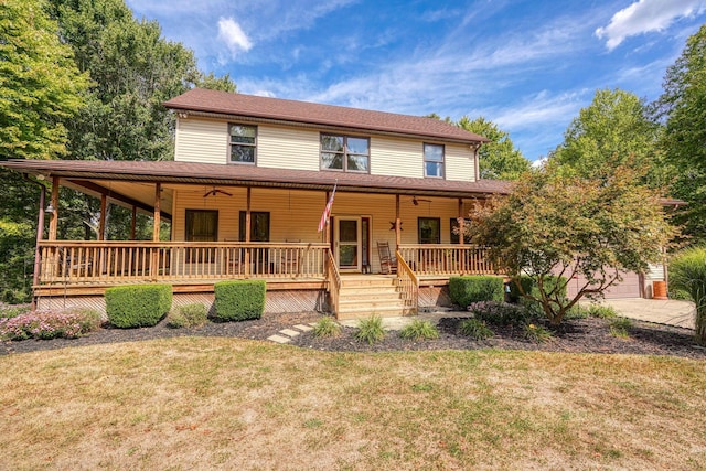
[[[117,286],[106,289],[106,312],[110,323],[117,328],[156,325],[171,307],[171,285]]]

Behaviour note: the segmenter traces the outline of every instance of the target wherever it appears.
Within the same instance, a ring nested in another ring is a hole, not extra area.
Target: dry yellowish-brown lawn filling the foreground
[[[0,367],[0,469],[706,468],[706,362],[180,338]]]

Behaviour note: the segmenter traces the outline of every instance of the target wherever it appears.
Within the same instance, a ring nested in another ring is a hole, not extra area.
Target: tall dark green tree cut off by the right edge
[[[688,203],[675,222],[694,243],[706,243],[706,25],[667,69],[655,116],[665,121],[665,158],[678,170],[673,194]]]

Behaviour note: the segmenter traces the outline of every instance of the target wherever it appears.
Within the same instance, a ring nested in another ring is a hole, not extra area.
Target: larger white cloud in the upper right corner
[[[652,31],[664,31],[673,21],[700,14],[706,0],[639,0],[613,14],[606,28],[596,30],[599,39],[612,51],[627,38]]]

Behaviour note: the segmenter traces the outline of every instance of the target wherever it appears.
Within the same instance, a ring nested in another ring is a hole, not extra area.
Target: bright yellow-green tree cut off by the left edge
[[[87,74],[42,0],[3,0],[0,8],[0,159],[66,153],[64,122],[83,105]]]

